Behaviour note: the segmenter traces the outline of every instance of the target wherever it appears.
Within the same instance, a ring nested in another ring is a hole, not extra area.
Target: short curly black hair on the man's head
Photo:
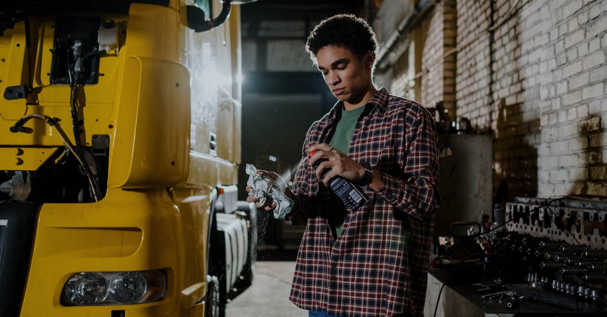
[[[334,15],[320,21],[310,32],[305,44],[305,51],[316,65],[316,53],[325,46],[336,45],[350,50],[361,58],[371,51],[377,56],[379,50],[378,40],[371,26],[364,19],[355,15]]]

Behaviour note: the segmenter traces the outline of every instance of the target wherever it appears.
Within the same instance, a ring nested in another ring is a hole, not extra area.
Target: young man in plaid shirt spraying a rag
[[[439,205],[433,118],[375,88],[378,43],[363,19],[325,19],[306,50],[339,101],[312,124],[302,155],[317,152],[285,191],[294,200],[285,220],[306,225],[290,299],[310,316],[421,316]],[[314,169],[320,158],[328,161]],[[327,187],[334,176],[360,186],[370,201],[345,210]],[[264,206],[273,210],[276,202]]]

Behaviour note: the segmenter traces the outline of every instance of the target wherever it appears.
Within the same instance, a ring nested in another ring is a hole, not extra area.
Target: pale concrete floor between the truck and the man
[[[226,307],[226,317],[306,317],[289,301],[294,261],[257,261],[253,285]]]

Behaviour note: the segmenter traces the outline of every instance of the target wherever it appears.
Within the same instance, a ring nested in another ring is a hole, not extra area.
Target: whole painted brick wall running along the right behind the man
[[[607,197],[607,1],[444,0],[419,29],[417,94],[492,132],[494,188]],[[392,90],[411,90],[396,80],[411,67],[392,69]]]

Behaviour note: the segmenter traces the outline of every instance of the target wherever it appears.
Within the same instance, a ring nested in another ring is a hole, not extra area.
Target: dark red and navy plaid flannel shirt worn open
[[[339,121],[339,102],[312,124],[302,155],[328,143]],[[285,220],[306,224],[290,299],[329,315],[421,316],[434,211],[439,206],[437,136],[420,104],[379,90],[356,123],[348,156],[382,172],[384,187],[362,189],[370,202],[346,211],[344,231],[333,239],[331,202],[308,161],[297,169],[295,206]]]

